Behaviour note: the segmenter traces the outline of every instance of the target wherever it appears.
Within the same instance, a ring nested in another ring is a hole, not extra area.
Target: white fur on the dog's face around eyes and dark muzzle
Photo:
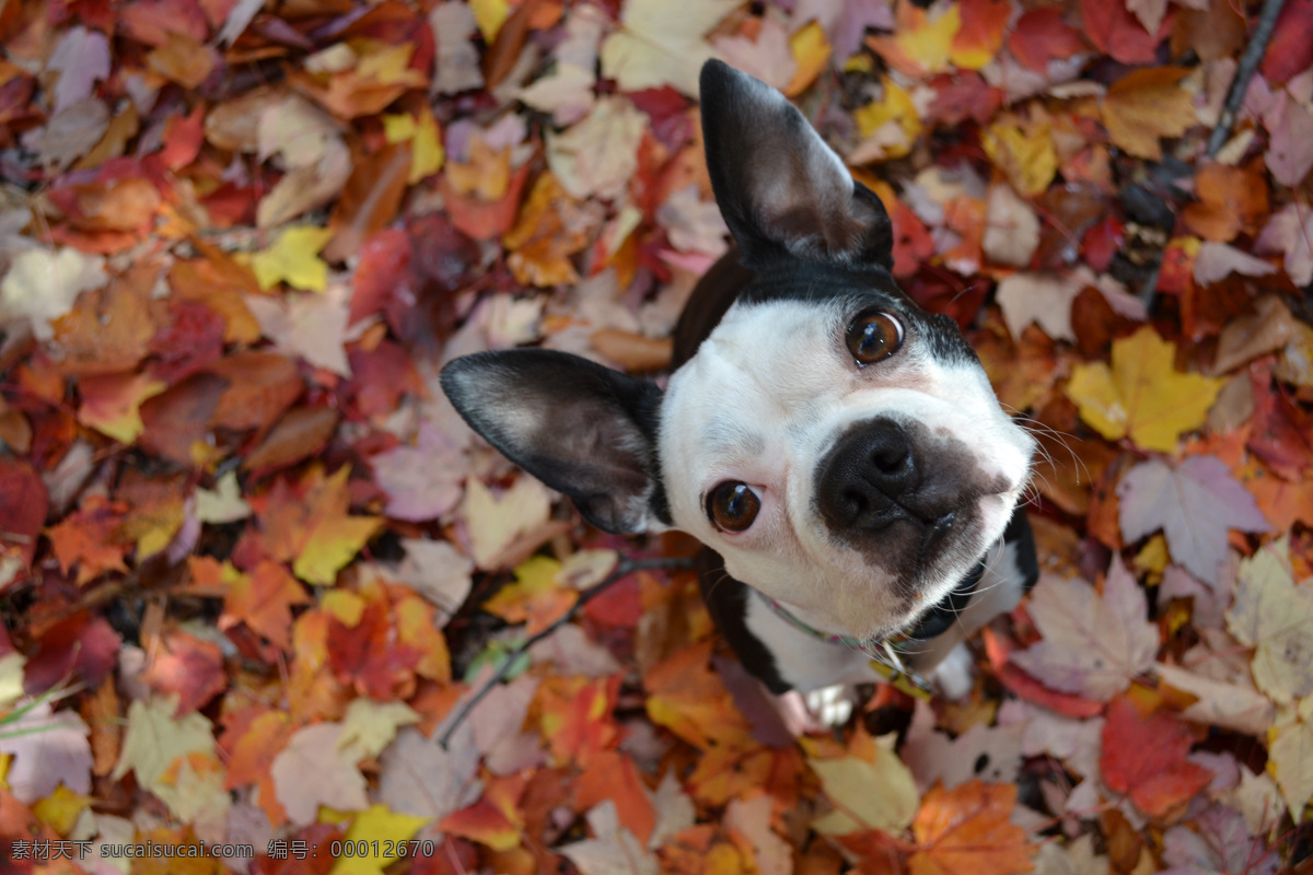
[[[720,552],[731,576],[821,628],[888,635],[945,596],[1002,535],[1035,445],[999,408],[978,363],[936,361],[907,319],[899,316],[906,340],[897,353],[857,367],[844,344],[852,315],[839,303],[735,303],[670,379],[660,458],[676,527]],[[872,551],[842,543],[814,496],[817,466],[836,438],[881,415],[957,438],[981,480],[1007,484],[978,499],[979,525],[961,533],[949,567],[920,581],[914,605],[895,588],[898,559],[873,561]],[[748,484],[762,501],[747,531],[725,534],[706,518],[705,497],[725,480]]]

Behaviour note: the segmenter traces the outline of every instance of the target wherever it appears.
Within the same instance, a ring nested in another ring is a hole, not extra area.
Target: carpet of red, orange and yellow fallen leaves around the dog
[[[1258,5],[0,4],[0,867],[1299,865],[1313,4],[1255,72]],[[587,529],[437,388],[520,344],[660,375],[726,245],[713,55],[1044,447],[1043,579],[960,702],[788,736],[691,572],[590,589],[687,539]]]

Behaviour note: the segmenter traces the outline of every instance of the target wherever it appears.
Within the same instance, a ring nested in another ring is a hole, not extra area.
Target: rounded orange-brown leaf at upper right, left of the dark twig
[[[1197,119],[1195,98],[1180,87],[1184,67],[1133,70],[1108,87],[1103,125],[1112,142],[1136,157],[1162,159],[1162,136],[1180,136]]]

